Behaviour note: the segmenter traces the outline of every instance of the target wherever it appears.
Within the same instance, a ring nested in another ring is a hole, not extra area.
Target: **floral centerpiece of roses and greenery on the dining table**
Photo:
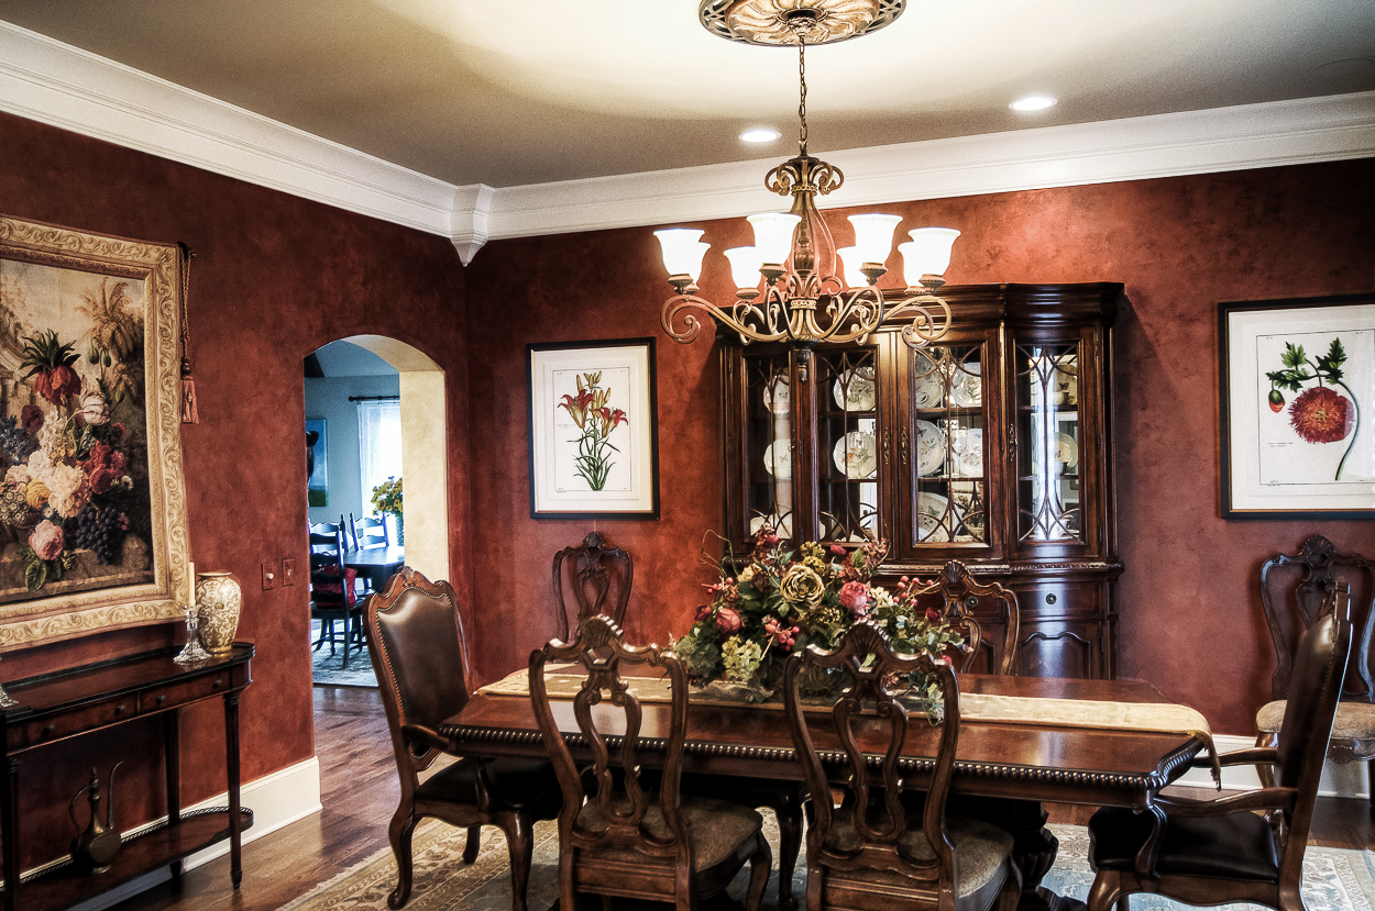
[[[789,550],[763,525],[742,566],[729,550],[715,563],[718,581],[707,587],[711,603],[697,609],[674,651],[694,683],[745,684],[758,699],[771,695],[795,649],[833,649],[857,620],[880,622],[898,651],[949,660],[947,653],[962,649],[964,639],[945,624],[939,609],[917,605],[918,585],[906,576],[892,592],[873,584],[887,552],[886,541],[854,550],[807,541]],[[918,698],[931,695],[934,682],[908,683]],[[832,691],[835,680],[818,669],[800,686],[803,694],[821,695]]]

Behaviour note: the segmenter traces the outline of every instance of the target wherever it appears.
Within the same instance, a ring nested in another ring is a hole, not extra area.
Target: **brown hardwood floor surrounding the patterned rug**
[[[375,690],[315,687],[315,749],[320,757],[319,816],[243,846],[243,885],[230,889],[221,857],[116,906],[120,911],[270,911],[386,848],[386,823],[400,790]],[[1053,807],[1052,822],[1082,824],[1090,807]],[[490,834],[488,834],[490,833]],[[499,838],[496,830],[484,838]],[[1319,798],[1312,844],[1375,845],[1364,800]]]

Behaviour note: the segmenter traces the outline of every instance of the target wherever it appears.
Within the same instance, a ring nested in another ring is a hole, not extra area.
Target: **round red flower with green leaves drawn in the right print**
[[[1319,356],[1309,356],[1302,345],[1286,342],[1280,360],[1282,370],[1265,374],[1270,381],[1268,396],[1270,411],[1282,414],[1286,407],[1284,393],[1297,393],[1294,401],[1288,403],[1288,420],[1301,440],[1324,444],[1341,442],[1350,437],[1336,464],[1334,480],[1341,481],[1361,426],[1356,394],[1345,382],[1346,349],[1342,339],[1334,338],[1327,353]]]

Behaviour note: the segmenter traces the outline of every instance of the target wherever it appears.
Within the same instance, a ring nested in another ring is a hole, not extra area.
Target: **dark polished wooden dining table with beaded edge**
[[[507,680],[516,683],[518,673]],[[967,673],[960,675],[960,691],[961,698],[964,694],[984,694],[1169,705],[1150,684],[1126,680]],[[583,736],[578,734],[571,701],[554,701],[553,708],[575,758],[588,754]],[[667,732],[670,706],[646,701],[642,708],[641,760],[653,765],[656,746],[661,749],[661,738]],[[610,709],[597,706],[595,710]],[[808,727],[822,760],[836,769],[837,776],[842,775],[844,758],[829,715],[808,715]],[[444,721],[440,735],[448,741],[448,750],[456,754],[546,754],[529,697],[514,691],[478,691],[462,712]],[[914,715],[902,760],[909,787],[923,787],[936,742],[938,730],[924,716]],[[984,807],[996,815],[990,822],[1012,833],[1013,853],[1023,875],[1022,911],[1082,907],[1040,885],[1059,849],[1056,837],[1045,827],[1044,805],[1090,804],[1148,811],[1159,790],[1180,778],[1206,745],[1206,735],[1188,731],[1064,727],[964,717],[952,793],[969,807]],[[608,746],[615,756],[619,747],[615,735],[608,736]],[[766,779],[803,778],[780,705],[719,704],[703,698],[689,699],[683,771]]]

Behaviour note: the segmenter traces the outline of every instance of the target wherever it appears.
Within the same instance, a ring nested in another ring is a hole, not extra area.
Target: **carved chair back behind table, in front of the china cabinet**
[[[940,576],[916,585],[917,603],[940,610],[940,616],[964,635],[968,649],[960,673],[1016,673],[1020,611],[1016,592],[998,583],[980,584],[960,561],[950,561]]]

